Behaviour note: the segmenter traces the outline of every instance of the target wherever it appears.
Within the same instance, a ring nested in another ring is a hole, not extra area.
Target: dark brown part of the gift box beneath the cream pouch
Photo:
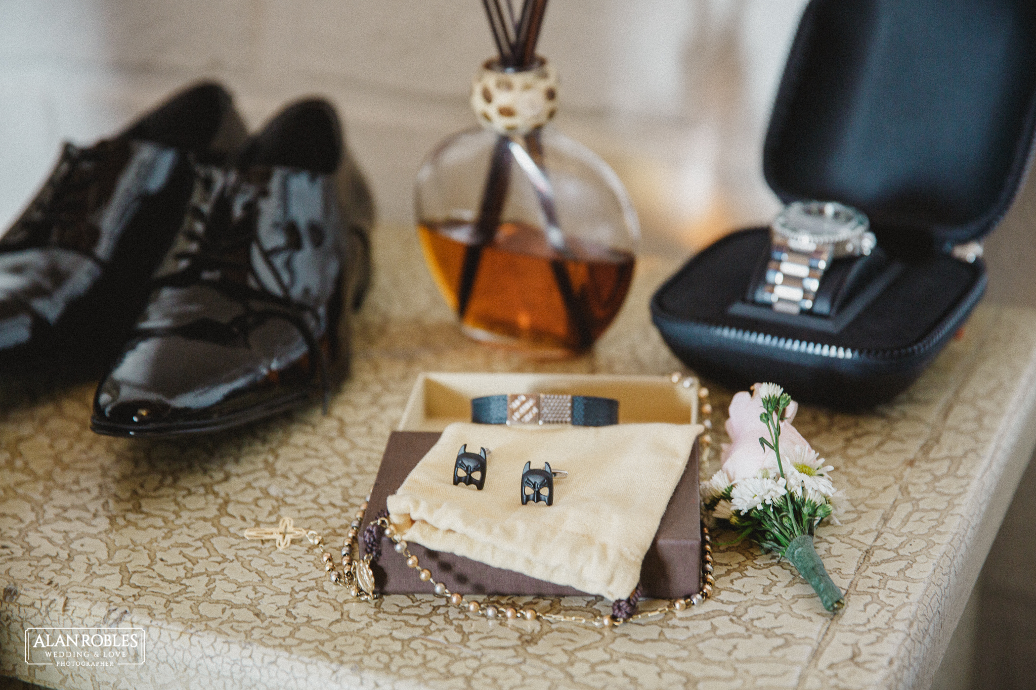
[[[367,521],[385,509],[385,499],[396,492],[438,439],[438,431],[393,431],[371,491]],[[646,597],[672,599],[689,596],[699,589],[698,453],[698,443],[695,442],[684,476],[669,499],[655,541],[644,557],[640,582]],[[361,540],[362,554],[365,554],[364,550]],[[431,570],[435,580],[443,582],[451,592],[516,596],[584,594],[571,587],[536,579],[513,570],[493,568],[453,553],[431,551],[412,542],[409,550],[418,557],[422,567]],[[378,590],[383,594],[427,594],[431,591],[426,582],[418,579],[416,571],[407,568],[403,558],[391,548],[387,539],[382,541],[381,558],[372,567]]]

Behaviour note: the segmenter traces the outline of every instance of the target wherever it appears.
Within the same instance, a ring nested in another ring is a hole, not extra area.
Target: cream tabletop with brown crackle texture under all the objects
[[[326,416],[128,441],[89,431],[92,386],[0,384],[0,673],[54,688],[926,687],[1036,443],[1036,311],[980,307],[892,404],[799,413],[848,504],[817,540],[846,591],[838,616],[739,545],[717,548],[715,598],[677,616],[503,624],[430,595],[348,602],[312,547],[242,532],[288,516],[340,544],[420,371],[679,369],[646,308],[675,264],[641,261],[593,355],[537,363],[460,335],[411,230],[379,229],[375,251],[352,378]],[[729,392],[713,394],[724,411]],[[27,627],[115,625],[146,630],[142,665],[24,661]]]

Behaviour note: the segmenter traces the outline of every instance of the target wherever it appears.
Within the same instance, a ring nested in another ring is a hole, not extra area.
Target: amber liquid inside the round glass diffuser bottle
[[[421,224],[418,233],[455,311],[468,279],[460,314],[466,333],[544,354],[588,349],[615,318],[633,278],[632,253],[569,239],[563,254],[542,230],[524,223],[501,223],[484,245],[474,243],[471,223]]]

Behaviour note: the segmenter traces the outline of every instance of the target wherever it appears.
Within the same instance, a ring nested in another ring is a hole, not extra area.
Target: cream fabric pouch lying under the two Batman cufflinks
[[[625,599],[701,430],[451,424],[388,497],[390,518],[406,540],[427,548]],[[453,484],[465,445],[489,451],[481,491]],[[552,506],[522,505],[525,462],[569,473],[554,480]]]

